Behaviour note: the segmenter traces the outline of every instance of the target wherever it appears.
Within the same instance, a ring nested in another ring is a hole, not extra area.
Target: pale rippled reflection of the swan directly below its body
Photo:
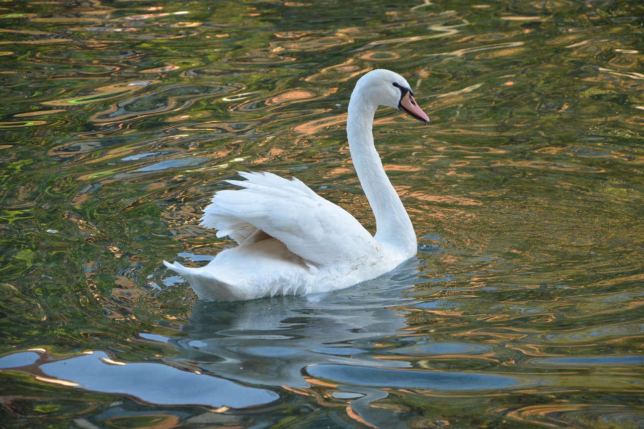
[[[407,368],[375,357],[383,338],[406,329],[404,291],[419,281],[418,260],[342,291],[233,303],[196,301],[171,358],[245,383],[308,387],[303,369],[346,364]]]

